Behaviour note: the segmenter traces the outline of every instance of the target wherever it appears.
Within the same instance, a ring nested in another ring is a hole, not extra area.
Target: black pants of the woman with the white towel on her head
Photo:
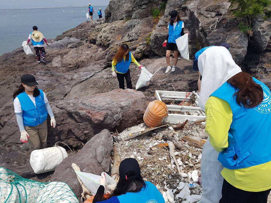
[[[219,203],[266,203],[270,190],[262,192],[244,191],[235,188],[224,179],[222,198]]]

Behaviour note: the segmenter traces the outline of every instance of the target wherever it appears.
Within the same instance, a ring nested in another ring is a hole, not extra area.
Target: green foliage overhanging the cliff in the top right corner
[[[257,15],[263,15],[263,19],[271,17],[271,0],[229,0],[231,8],[235,8],[233,13],[236,17],[242,19],[238,25],[240,30],[246,34],[252,35],[251,18]]]

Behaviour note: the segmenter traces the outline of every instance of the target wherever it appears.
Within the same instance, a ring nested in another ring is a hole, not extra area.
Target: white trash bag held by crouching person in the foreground
[[[107,173],[102,173],[101,175],[95,175],[92,173],[85,173],[85,172],[80,172],[80,171],[75,171],[76,175],[80,178],[80,180],[83,182],[83,184],[86,186],[89,192],[91,192],[92,195],[95,195],[100,184],[99,184],[99,179],[101,175],[105,175],[106,180],[107,180],[107,186],[105,188],[108,190],[111,190],[110,185],[117,185],[117,182]]]

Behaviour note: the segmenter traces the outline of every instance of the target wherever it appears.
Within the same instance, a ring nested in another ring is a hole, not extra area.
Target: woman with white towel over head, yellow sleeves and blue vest
[[[242,72],[224,47],[205,50],[199,56],[198,67],[202,75],[200,97],[213,90],[206,97],[204,107],[205,131],[224,167],[219,202],[266,203],[271,190],[271,92],[264,83]],[[204,150],[201,160],[212,159]],[[202,165],[202,186],[205,168]],[[216,166],[212,164],[208,168]],[[212,171],[208,174],[210,179]],[[202,189],[202,198],[205,198]]]

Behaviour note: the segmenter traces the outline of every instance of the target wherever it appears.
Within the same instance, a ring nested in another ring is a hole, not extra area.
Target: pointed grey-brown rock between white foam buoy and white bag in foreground
[[[76,155],[65,158],[57,166],[51,181],[67,183],[74,191],[76,197],[81,195],[81,186],[78,182],[72,163],[79,166],[80,170],[86,173],[101,175],[108,173],[111,163],[110,152],[113,147],[113,139],[108,130],[102,130],[92,137]]]

